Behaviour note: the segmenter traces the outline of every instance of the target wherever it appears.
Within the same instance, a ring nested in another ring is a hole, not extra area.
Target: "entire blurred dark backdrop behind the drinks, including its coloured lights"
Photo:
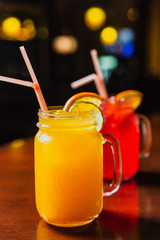
[[[23,45],[47,105],[63,105],[75,93],[97,92],[93,82],[70,87],[95,72],[95,48],[109,94],[139,90],[137,111],[158,113],[159,13],[159,0],[0,1],[0,75],[31,81]],[[33,89],[0,82],[0,144],[33,136],[38,108]]]

